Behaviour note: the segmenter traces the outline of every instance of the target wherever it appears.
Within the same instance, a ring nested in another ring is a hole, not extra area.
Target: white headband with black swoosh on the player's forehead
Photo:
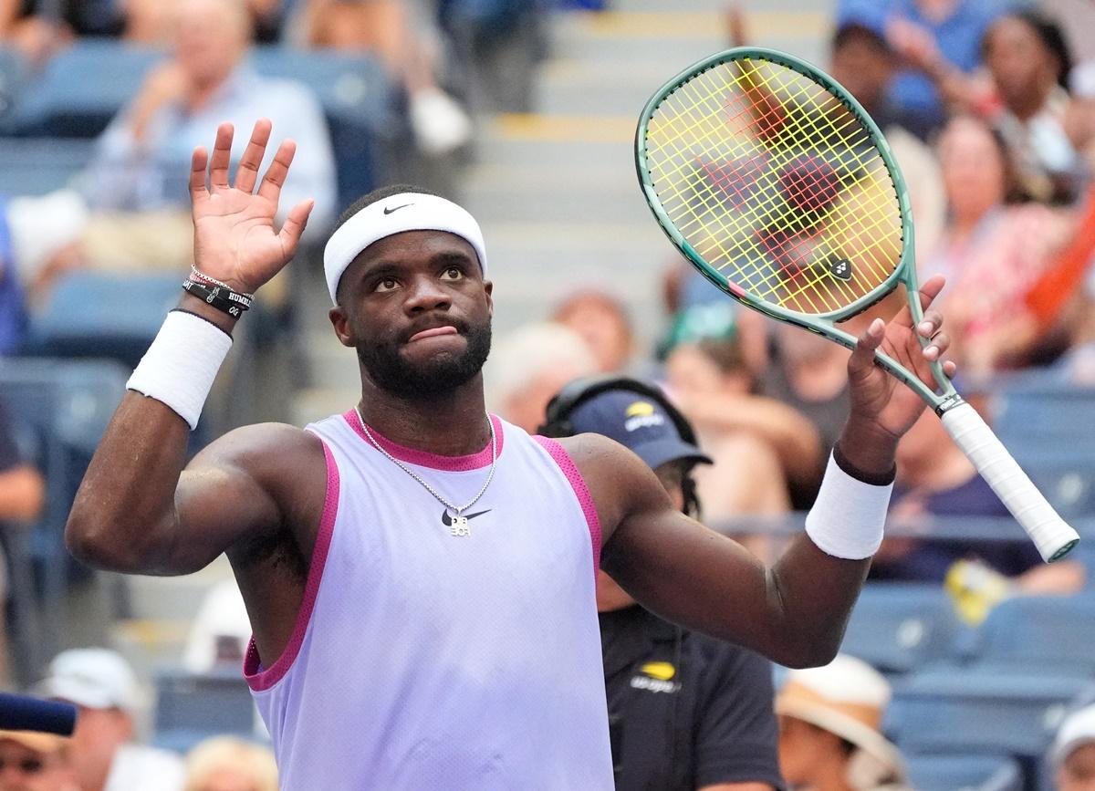
[[[346,267],[376,241],[403,231],[448,231],[475,249],[486,277],[486,247],[479,222],[465,209],[437,195],[400,193],[371,203],[338,227],[323,249],[323,272],[331,301]]]

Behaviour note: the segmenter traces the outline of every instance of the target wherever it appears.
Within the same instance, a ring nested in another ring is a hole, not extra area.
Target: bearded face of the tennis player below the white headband
[[[491,290],[464,239],[405,231],[373,242],[350,264],[331,321],[378,388],[401,398],[441,396],[486,362]]]

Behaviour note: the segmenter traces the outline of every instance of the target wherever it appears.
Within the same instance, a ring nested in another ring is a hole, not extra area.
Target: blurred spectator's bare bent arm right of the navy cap
[[[745,431],[769,443],[793,483],[817,481],[825,457],[814,425],[797,410],[763,396],[701,396],[681,404],[701,429]]]

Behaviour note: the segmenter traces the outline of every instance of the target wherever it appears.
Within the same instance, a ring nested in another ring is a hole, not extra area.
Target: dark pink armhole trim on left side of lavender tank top
[[[320,442],[323,443],[322,439]],[[338,466],[335,465],[335,457],[326,443],[323,443],[323,458],[327,467],[327,488],[323,495],[323,515],[320,517],[320,530],[315,536],[312,563],[308,569],[308,580],[304,583],[304,597],[300,601],[300,609],[297,610],[297,622],[292,627],[292,634],[281,655],[269,667],[263,667],[254,637],[251,638],[246,656],[243,657],[243,677],[256,692],[273,687],[292,667],[297,654],[300,653],[300,646],[304,642],[304,632],[308,631],[312,609],[315,607],[315,597],[320,593],[320,582],[323,580],[323,569],[327,562],[327,551],[331,549],[331,538],[334,535],[335,517],[338,515]]]

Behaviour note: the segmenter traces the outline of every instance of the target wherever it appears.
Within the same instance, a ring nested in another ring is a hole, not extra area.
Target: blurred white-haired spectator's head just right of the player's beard
[[[566,382],[597,374],[597,357],[581,335],[550,322],[526,324],[503,337],[487,360],[491,410],[529,434]]]

